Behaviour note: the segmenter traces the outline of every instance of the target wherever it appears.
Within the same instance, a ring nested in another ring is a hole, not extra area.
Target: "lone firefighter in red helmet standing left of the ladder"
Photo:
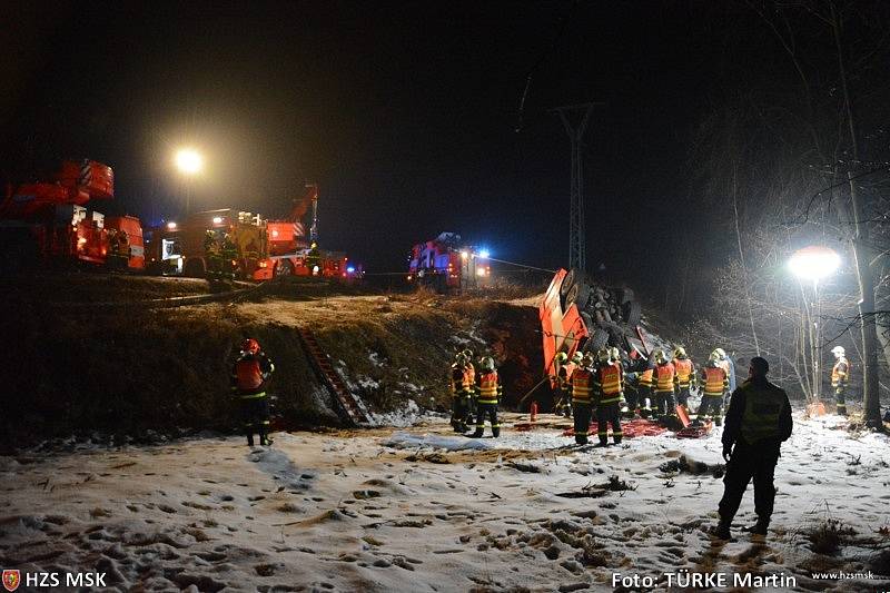
[[[254,433],[260,445],[270,445],[269,401],[266,387],[275,372],[275,365],[259,349],[259,343],[247,338],[241,343],[241,353],[231,369],[231,391],[241,403],[244,429],[248,446],[254,446]]]

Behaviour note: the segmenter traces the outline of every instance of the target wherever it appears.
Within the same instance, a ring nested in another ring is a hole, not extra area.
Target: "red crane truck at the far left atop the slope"
[[[7,186],[0,202],[0,263],[7,268],[83,264],[142,269],[139,219],[87,207],[113,196],[111,167],[93,160],[66,160],[50,181]]]

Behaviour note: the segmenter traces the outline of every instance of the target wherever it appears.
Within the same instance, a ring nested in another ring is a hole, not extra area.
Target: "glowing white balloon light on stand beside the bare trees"
[[[822,315],[822,303],[819,298],[819,280],[832,274],[841,265],[841,257],[828,247],[812,245],[799,249],[791,255],[788,267],[791,273],[800,280],[801,296],[803,297],[803,312],[807,317],[810,342],[810,366],[812,368],[812,398],[814,404],[819,404],[819,396],[822,385],[820,376],[820,363],[822,360],[822,338],[819,319]],[[813,303],[807,305],[807,293],[803,289],[803,280],[813,283]]]

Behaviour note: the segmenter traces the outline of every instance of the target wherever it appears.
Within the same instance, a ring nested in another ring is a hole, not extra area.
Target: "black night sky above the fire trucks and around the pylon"
[[[117,204],[100,209],[158,221],[182,209],[172,151],[195,146],[207,168],[194,208],[279,216],[318,181],[323,247],[370,271],[402,270],[411,245],[443,230],[565,266],[570,145],[547,110],[604,101],[585,148],[589,263],[632,280],[679,230],[665,218],[683,207],[686,144],[724,73],[730,20],[690,1],[0,11],[3,177],[97,159],[116,171]]]

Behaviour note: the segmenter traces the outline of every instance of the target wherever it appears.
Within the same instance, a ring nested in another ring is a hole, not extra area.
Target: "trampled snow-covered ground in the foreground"
[[[752,580],[739,591],[770,575],[767,590],[890,590],[890,439],[795,421],[765,541],[703,531],[719,433],[577,449],[556,427],[505,427],[466,449],[442,422],[278,434],[270,449],[230,437],[0,457],[0,566],[95,570],[128,591],[663,591],[681,570],[725,575],[711,590],[734,574]],[[596,487],[611,476],[631,490]],[[753,520],[749,492],[736,522]],[[838,571],[851,577],[813,579]]]

